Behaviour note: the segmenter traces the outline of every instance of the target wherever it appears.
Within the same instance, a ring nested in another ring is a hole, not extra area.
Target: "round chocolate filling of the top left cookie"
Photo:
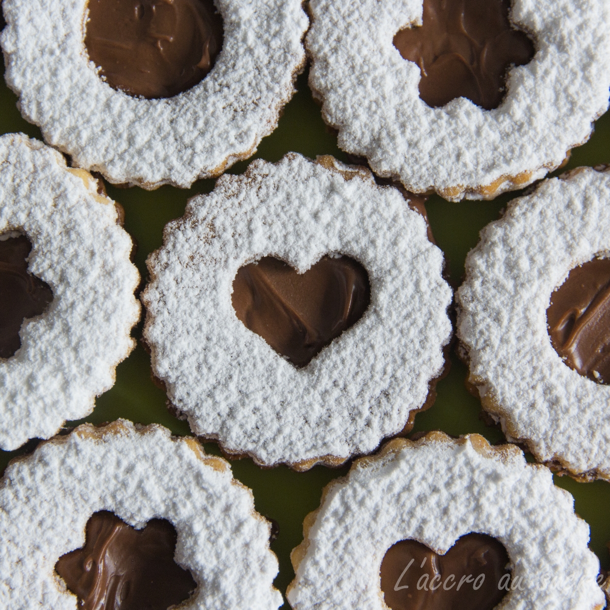
[[[89,0],[85,46],[115,89],[171,98],[212,70],[223,44],[212,0]]]

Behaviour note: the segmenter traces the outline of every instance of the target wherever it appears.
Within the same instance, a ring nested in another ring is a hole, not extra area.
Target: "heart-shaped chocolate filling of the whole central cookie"
[[[304,367],[362,317],[370,286],[364,267],[346,256],[325,256],[302,274],[265,257],[237,271],[231,300],[245,326]]]

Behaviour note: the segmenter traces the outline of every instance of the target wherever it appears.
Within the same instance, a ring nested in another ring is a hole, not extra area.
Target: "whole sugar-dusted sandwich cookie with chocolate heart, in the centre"
[[[257,464],[341,464],[410,430],[451,336],[422,215],[290,153],[225,174],[148,259],[143,336],[192,431]]]

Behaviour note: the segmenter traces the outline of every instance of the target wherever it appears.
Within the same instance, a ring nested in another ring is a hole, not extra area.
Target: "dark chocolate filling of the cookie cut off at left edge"
[[[23,321],[43,314],[53,300],[49,285],[27,272],[31,249],[25,235],[0,240],[0,358],[15,354]]]

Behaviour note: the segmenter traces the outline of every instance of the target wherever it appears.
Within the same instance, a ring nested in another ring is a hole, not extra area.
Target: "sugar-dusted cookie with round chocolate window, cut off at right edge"
[[[469,382],[509,440],[610,480],[610,172],[578,168],[481,231],[458,290]]]

